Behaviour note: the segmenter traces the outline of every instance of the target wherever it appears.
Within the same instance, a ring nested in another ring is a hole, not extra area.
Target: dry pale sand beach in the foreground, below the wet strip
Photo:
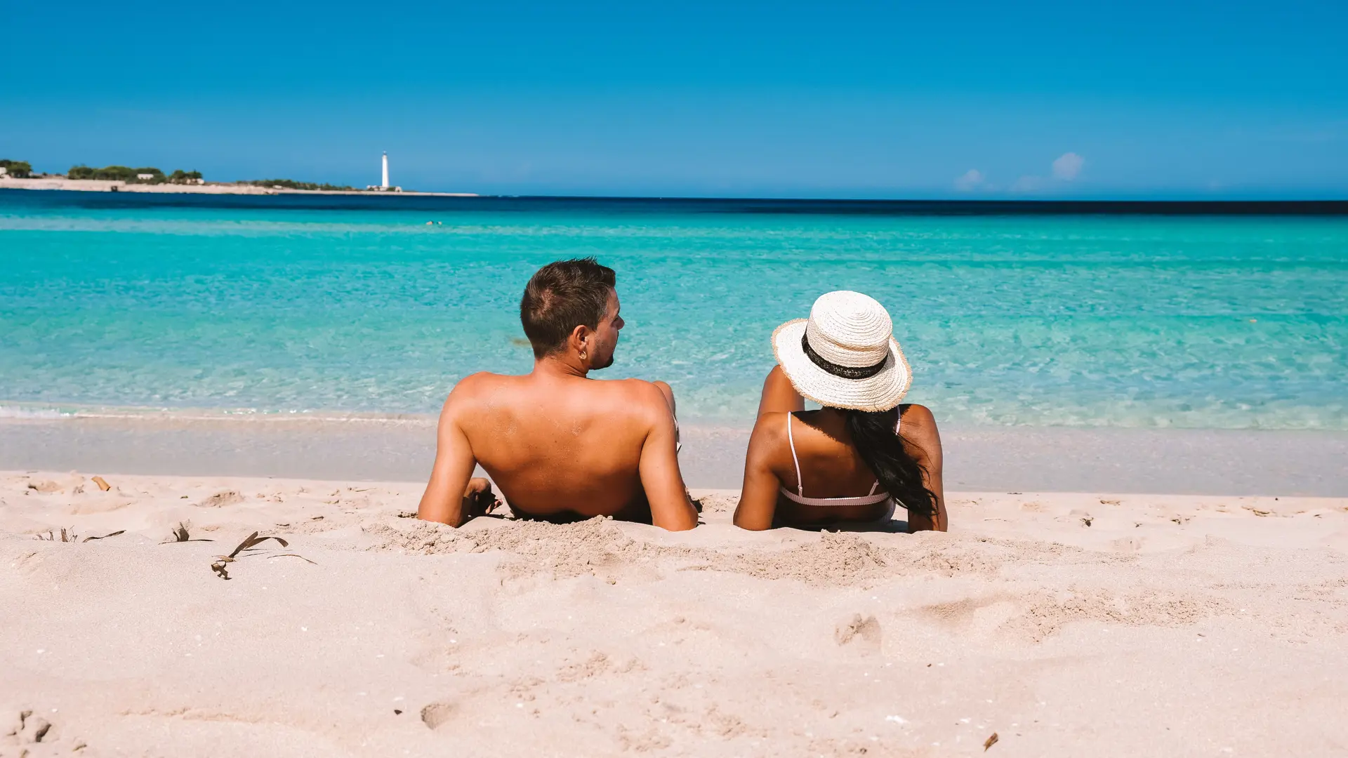
[[[454,530],[421,483],[94,473],[0,475],[4,757],[1348,751],[1348,499]]]

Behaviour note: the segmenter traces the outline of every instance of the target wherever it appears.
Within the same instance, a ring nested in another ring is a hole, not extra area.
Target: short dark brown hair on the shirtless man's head
[[[557,260],[539,268],[519,301],[519,320],[534,345],[534,357],[562,349],[581,324],[597,329],[616,281],[613,270],[593,258]]]

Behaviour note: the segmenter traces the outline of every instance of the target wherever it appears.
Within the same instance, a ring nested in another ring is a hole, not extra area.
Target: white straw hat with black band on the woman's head
[[[820,295],[809,318],[772,332],[772,352],[795,391],[822,406],[890,410],[913,383],[890,313],[861,293]]]

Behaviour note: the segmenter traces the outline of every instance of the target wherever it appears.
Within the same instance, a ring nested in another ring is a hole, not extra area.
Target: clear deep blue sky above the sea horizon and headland
[[[1348,3],[5,0],[0,156],[501,194],[1348,197]]]

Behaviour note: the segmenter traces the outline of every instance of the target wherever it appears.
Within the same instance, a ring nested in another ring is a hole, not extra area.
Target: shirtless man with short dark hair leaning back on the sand
[[[613,363],[623,328],[613,285],[613,270],[593,258],[534,274],[519,303],[534,371],[473,374],[449,394],[418,518],[460,526],[489,513],[491,483],[470,479],[481,464],[524,518],[697,526],[678,469],[669,384],[586,378]]]

